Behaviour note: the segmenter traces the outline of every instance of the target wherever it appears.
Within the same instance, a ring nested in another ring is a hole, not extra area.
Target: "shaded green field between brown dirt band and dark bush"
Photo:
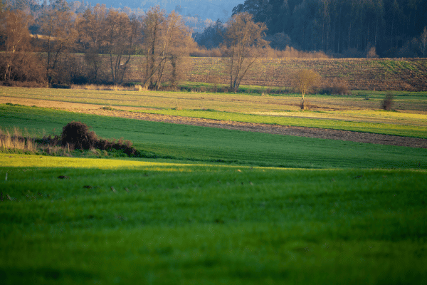
[[[303,168],[427,169],[427,149],[376,145],[191,125],[148,122],[35,107],[0,105],[0,126],[60,134],[80,120],[103,138],[131,140],[147,157],[233,165]]]

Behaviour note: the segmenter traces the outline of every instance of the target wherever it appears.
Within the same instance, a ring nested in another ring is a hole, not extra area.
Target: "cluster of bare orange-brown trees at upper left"
[[[196,45],[181,16],[159,7],[139,17],[99,4],[75,14],[64,0],[45,8],[36,19],[21,9],[0,10],[6,51],[0,53],[0,80],[122,84],[131,56],[142,54],[140,79],[159,88],[165,80],[176,83],[181,58]],[[77,53],[85,54],[84,63]]]

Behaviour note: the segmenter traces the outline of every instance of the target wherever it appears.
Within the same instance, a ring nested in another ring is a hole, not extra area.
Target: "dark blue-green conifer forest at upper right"
[[[426,56],[425,0],[246,0],[233,14],[243,11],[265,23],[272,48]]]

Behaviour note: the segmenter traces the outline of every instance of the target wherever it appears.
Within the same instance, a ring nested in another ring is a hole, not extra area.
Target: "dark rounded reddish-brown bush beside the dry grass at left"
[[[63,127],[61,138],[63,146],[68,144],[83,150],[94,147],[97,142],[95,132],[90,132],[88,125],[75,121]]]

